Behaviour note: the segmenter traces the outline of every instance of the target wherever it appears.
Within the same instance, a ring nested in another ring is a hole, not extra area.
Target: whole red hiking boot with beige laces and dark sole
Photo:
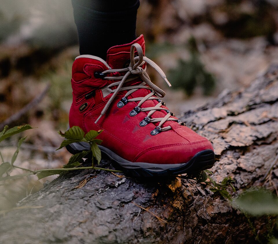
[[[70,127],[103,130],[100,150],[133,176],[167,176],[211,168],[211,143],[175,117],[160,98],[146,65],[163,71],[144,56],[143,35],[111,47],[107,61],[92,55],[76,58],[72,67],[73,103]],[[136,56],[136,57],[134,57]],[[170,85],[171,86],[171,85]],[[71,153],[90,150],[86,143],[67,146]]]

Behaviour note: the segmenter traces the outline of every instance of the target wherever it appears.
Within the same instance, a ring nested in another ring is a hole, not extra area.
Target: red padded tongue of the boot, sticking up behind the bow
[[[141,45],[143,53],[145,55],[145,40],[144,36],[140,35],[136,40],[131,43],[123,44],[119,46],[112,46],[107,51],[107,63],[112,69],[122,69],[129,64],[130,48],[134,43]],[[135,52],[136,53],[136,52]]]

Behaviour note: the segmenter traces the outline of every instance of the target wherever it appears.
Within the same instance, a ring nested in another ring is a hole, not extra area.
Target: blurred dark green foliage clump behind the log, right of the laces
[[[168,77],[173,88],[183,89],[190,96],[197,86],[201,86],[204,95],[211,95],[215,88],[215,78],[202,64],[194,37],[189,39],[188,49],[190,59],[179,59],[177,67],[169,70]]]

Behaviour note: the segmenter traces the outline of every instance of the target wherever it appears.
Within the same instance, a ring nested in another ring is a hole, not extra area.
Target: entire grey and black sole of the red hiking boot
[[[182,164],[150,164],[143,162],[131,162],[123,159],[108,148],[98,145],[100,151],[105,153],[111,160],[127,174],[133,177],[163,177],[170,175],[180,175],[184,173],[195,173],[213,167],[215,154],[213,150],[203,150],[194,155],[188,162]],[[83,150],[90,150],[87,143],[72,143],[66,146],[72,153],[81,153]]]

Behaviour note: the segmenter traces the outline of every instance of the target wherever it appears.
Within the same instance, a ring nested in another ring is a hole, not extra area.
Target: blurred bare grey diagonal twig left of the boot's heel
[[[27,113],[30,109],[32,109],[33,107],[35,107],[46,95],[46,93],[48,92],[50,88],[50,84],[48,83],[45,87],[45,89],[38,95],[36,96],[30,103],[28,103],[27,105],[25,105],[21,110],[19,110],[17,113],[13,114],[12,116],[10,116],[8,119],[6,119],[5,121],[3,121],[0,124],[0,129],[3,129],[5,125],[9,125],[10,123],[20,119],[20,117]]]

